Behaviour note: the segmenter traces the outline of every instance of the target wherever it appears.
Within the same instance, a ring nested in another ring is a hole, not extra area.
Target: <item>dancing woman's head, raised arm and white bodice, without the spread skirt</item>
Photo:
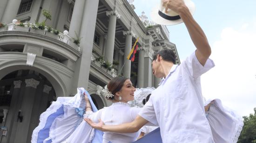
[[[97,112],[92,112],[89,99],[85,96],[87,105],[84,117],[94,122],[99,122],[100,120],[107,125],[117,125],[133,121],[139,113],[140,108],[131,108],[127,102],[134,100],[135,90],[135,87],[133,87],[128,78],[113,78],[102,91],[103,95],[111,100],[113,104]],[[79,132],[79,130],[76,130],[76,132]],[[132,143],[137,140],[139,134],[140,130],[134,133],[104,132],[102,143]]]

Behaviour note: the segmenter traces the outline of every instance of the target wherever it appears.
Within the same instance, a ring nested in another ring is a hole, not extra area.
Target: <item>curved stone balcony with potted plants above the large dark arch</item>
[[[74,69],[74,62],[81,56],[80,48],[68,36],[68,31],[59,32],[39,24],[0,23],[0,54],[28,54],[47,58],[55,64]],[[13,57],[14,58],[14,57]]]

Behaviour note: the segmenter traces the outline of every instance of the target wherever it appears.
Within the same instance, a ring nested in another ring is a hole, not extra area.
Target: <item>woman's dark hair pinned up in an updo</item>
[[[115,95],[116,92],[120,91],[124,82],[128,78],[125,77],[115,77],[112,78],[108,83],[108,91],[111,92],[113,95]],[[108,98],[109,100],[113,100],[114,97]]]

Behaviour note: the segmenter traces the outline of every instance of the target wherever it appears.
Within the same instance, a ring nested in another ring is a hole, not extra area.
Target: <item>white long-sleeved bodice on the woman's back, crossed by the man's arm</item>
[[[95,123],[101,119],[105,125],[118,125],[132,122],[139,111],[140,108],[131,108],[129,104],[116,102],[97,112],[87,111],[84,117],[92,119]],[[140,130],[135,133],[104,132],[103,143],[132,143],[136,141],[140,133]]]

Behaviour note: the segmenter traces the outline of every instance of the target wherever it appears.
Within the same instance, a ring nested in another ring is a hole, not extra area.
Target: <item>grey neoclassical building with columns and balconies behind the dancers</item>
[[[167,27],[149,25],[134,8],[132,0],[0,0],[0,143],[29,143],[40,114],[77,87],[99,109],[111,104],[100,91],[115,76],[157,87],[154,52],[173,50],[177,64],[179,56]],[[44,10],[52,17],[42,27]]]

